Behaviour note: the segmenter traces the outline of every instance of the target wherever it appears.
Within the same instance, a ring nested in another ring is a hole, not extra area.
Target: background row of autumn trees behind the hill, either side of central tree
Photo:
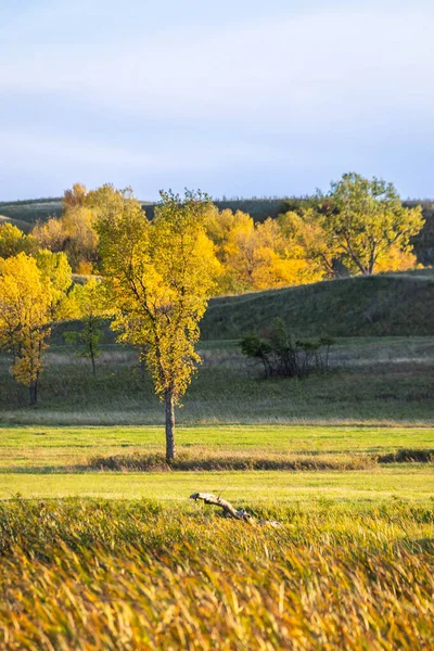
[[[31,234],[1,226],[0,256],[38,248],[63,252],[73,271],[101,272],[98,216],[115,194],[111,186],[88,191],[76,183],[64,194],[62,216],[37,224]],[[420,206],[403,206],[392,183],[347,174],[331,184],[329,193],[318,193],[260,224],[245,213],[218,210],[207,202],[204,225],[219,263],[214,291],[239,294],[340,275],[412,268],[411,239],[423,219]]]

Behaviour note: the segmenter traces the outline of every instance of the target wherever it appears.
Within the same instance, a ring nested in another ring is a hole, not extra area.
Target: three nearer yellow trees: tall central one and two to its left
[[[137,348],[165,403],[166,454],[175,456],[175,406],[200,362],[199,321],[215,292],[219,261],[206,234],[209,199],[162,192],[149,221],[129,190],[104,186],[92,220],[102,279],[72,284],[64,252],[24,252],[0,259],[0,346],[11,355],[17,382],[30,403],[43,369],[52,324],[81,318],[84,354],[95,369],[99,324],[110,315],[118,341]],[[76,192],[74,193],[76,194]]]

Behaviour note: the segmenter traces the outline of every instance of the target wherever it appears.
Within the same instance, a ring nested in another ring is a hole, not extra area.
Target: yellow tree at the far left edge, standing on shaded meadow
[[[15,380],[29,387],[31,405],[38,397],[51,324],[61,315],[71,284],[71,268],[68,281],[63,271],[64,254],[43,252],[39,260],[25,253],[0,258],[0,346],[12,356]]]

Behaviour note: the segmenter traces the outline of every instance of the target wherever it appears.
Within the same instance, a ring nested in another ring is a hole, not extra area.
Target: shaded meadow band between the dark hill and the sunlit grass
[[[203,365],[177,412],[179,423],[409,423],[434,414],[434,337],[340,340],[331,371],[306,380],[264,380],[237,342],[203,342]],[[164,409],[135,352],[106,346],[98,362],[68,346],[47,355],[37,408],[27,407],[0,358],[3,424],[161,424]]]

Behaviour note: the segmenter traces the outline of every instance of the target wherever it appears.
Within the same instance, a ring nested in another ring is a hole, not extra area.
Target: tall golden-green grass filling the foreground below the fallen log
[[[0,507],[2,649],[429,649],[434,512],[153,502]]]

